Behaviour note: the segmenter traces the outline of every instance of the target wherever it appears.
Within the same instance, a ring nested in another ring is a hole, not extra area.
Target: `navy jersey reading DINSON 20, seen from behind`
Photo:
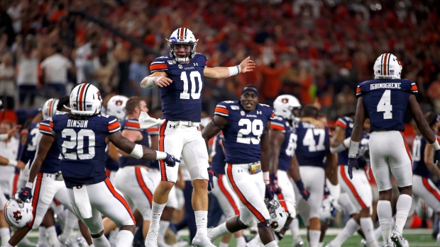
[[[104,181],[106,137],[121,130],[114,116],[94,115],[72,120],[68,113],[52,117],[52,130],[62,147],[60,167],[67,188]]]

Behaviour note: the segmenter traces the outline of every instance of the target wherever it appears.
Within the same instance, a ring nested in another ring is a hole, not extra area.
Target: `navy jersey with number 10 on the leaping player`
[[[200,122],[202,113],[203,71],[208,59],[196,53],[188,64],[177,64],[169,56],[158,57],[150,65],[151,73],[165,71],[172,84],[159,88],[162,118],[170,121]]]

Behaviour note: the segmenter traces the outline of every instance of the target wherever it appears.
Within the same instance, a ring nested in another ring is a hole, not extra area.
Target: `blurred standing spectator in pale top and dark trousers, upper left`
[[[33,41],[33,35],[27,35],[24,47],[21,47],[21,45],[16,47],[18,57],[17,85],[20,107],[23,107],[26,98],[29,98],[29,105],[31,107],[33,107],[35,100],[40,52],[34,50]]]

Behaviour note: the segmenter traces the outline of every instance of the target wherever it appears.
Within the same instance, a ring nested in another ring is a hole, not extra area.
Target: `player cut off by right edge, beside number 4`
[[[429,123],[432,132],[438,133],[440,115],[429,112],[425,114],[425,119]],[[409,215],[414,213],[417,205],[419,205],[419,199],[422,199],[440,216],[440,190],[431,180],[433,175],[440,178],[440,169],[433,159],[434,149],[427,145],[427,139],[420,134],[415,125],[414,131],[417,135],[414,142],[412,142],[412,159],[414,159],[412,183],[414,185],[412,186],[412,205]],[[436,138],[439,137],[436,136]],[[437,235],[437,243],[440,243],[440,234]]]

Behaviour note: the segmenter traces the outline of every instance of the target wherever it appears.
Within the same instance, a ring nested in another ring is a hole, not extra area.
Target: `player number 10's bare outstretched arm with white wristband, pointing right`
[[[233,67],[205,67],[203,76],[207,79],[224,79],[229,76],[235,76],[236,74],[253,71],[254,68],[255,62],[251,60],[251,57],[246,57],[240,65]]]

